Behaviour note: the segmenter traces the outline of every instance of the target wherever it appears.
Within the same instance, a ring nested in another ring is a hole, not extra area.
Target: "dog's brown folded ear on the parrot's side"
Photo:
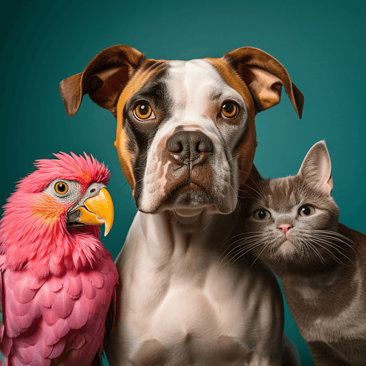
[[[116,116],[119,93],[144,60],[144,54],[126,45],[104,49],[89,62],[82,73],[60,82],[60,93],[67,115],[74,115],[83,95],[89,94],[93,102]]]

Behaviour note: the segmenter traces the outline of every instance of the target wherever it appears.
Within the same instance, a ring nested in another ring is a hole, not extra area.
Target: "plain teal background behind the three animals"
[[[287,95],[256,117],[255,164],[263,176],[299,169],[325,139],[341,221],[365,232],[365,1],[12,1],[1,27],[1,201],[52,152],[92,153],[111,170],[115,258],[136,212],[113,147],[116,122],[86,96],[67,117],[58,84],[102,49],[126,44],[148,58],[221,57],[253,46],[277,58],[304,93],[303,118]],[[286,333],[313,365],[286,310]]]

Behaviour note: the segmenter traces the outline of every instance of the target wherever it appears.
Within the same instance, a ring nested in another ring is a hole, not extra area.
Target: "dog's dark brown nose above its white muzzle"
[[[179,131],[168,139],[168,150],[179,163],[203,163],[212,148],[211,139],[201,131]]]

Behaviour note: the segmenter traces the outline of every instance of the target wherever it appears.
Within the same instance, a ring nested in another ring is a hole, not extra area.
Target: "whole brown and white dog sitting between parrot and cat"
[[[117,118],[115,147],[139,209],[116,260],[111,365],[296,364],[290,352],[282,360],[275,278],[245,256],[220,265],[240,234],[255,114],[279,103],[282,85],[301,117],[286,69],[253,47],[166,61],[116,45],[62,80],[68,115],[88,93]]]

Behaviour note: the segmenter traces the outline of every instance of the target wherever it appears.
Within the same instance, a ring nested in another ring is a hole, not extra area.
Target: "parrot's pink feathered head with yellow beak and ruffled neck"
[[[57,159],[34,163],[37,169],[16,185],[3,207],[0,252],[11,255],[11,262],[19,258],[17,268],[68,255],[76,262],[75,253],[84,264],[100,243],[98,225],[105,225],[106,235],[113,224],[106,166],[85,153],[54,155]]]

